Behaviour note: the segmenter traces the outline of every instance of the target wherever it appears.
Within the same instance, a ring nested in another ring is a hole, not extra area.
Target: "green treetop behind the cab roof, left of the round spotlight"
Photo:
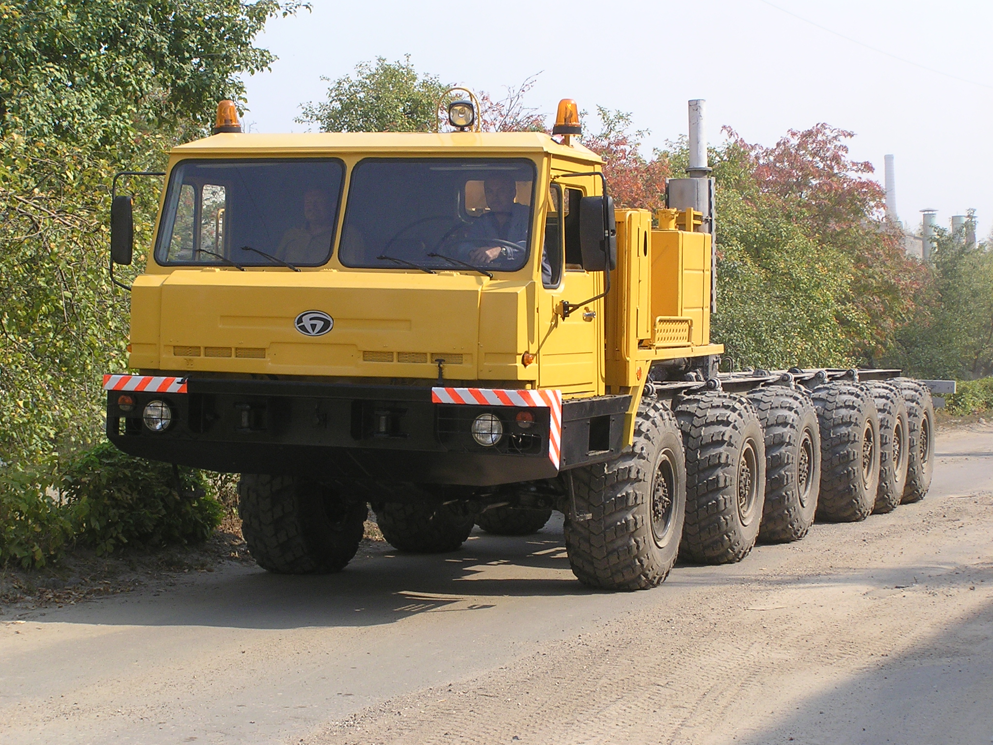
[[[376,58],[359,63],[354,75],[331,82],[328,99],[305,103],[297,119],[323,132],[430,132],[438,99],[449,87],[437,75],[418,74],[409,55],[395,63]]]

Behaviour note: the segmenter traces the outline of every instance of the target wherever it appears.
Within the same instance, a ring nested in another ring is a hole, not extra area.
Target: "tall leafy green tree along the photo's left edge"
[[[298,7],[0,0],[0,461],[49,467],[99,433],[128,325],[106,271],[113,173],[161,168],[204,131],[216,99],[273,59],[251,45],[265,20]],[[160,186],[136,185],[139,245]]]

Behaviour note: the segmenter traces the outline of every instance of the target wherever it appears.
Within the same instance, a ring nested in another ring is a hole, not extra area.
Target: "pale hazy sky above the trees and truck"
[[[730,126],[772,145],[817,122],[856,133],[851,156],[896,158],[897,212],[938,224],[974,208],[993,225],[993,2],[944,0],[312,0],[256,45],[279,59],[246,78],[249,131],[306,131],[300,105],[376,57],[497,97],[538,74],[527,103],[560,98],[632,114],[645,152],[687,132],[707,101],[711,144]]]

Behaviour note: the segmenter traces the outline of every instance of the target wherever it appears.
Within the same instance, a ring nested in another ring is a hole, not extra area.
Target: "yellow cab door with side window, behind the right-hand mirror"
[[[557,190],[547,200],[544,250],[551,274],[543,272],[538,293],[538,385],[559,388],[563,394],[601,395],[604,392],[603,299],[587,301],[603,292],[604,273],[583,269],[579,247],[579,200],[583,191],[563,185],[559,215]],[[559,240],[565,230],[565,255]],[[564,259],[564,261],[563,261]],[[556,266],[556,261],[558,265]],[[557,275],[557,276],[555,276]],[[563,313],[563,301],[571,312]],[[579,307],[573,308],[576,304]]]

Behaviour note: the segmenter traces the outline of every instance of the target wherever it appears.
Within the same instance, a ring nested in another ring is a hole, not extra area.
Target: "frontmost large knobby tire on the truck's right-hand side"
[[[661,584],[679,552],[686,504],[682,439],[668,407],[642,401],[632,450],[565,478],[579,518],[566,515],[565,545],[579,581],[605,590]]]

